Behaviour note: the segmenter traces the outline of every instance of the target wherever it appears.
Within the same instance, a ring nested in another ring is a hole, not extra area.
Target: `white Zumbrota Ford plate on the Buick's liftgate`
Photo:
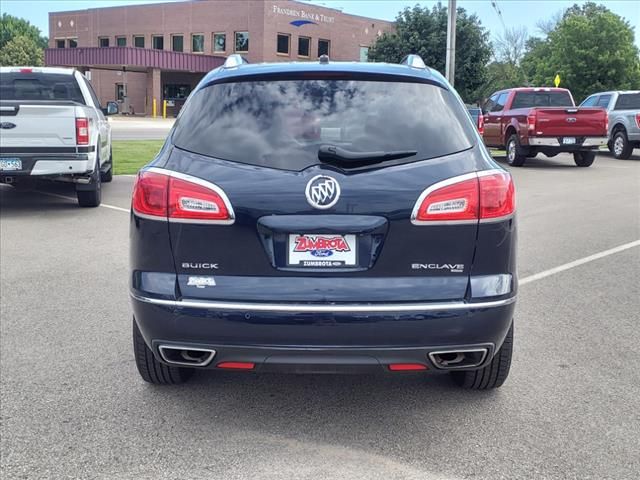
[[[292,234],[289,235],[287,266],[308,268],[340,268],[356,265],[355,235]]]

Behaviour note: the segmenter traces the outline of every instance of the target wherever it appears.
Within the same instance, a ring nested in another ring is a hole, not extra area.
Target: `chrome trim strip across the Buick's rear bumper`
[[[249,312],[288,313],[385,313],[385,312],[443,312],[447,310],[476,310],[510,305],[516,297],[487,302],[432,302],[432,303],[385,303],[385,304],[295,304],[295,303],[235,303],[211,300],[163,300],[131,293],[131,298],[152,305],[173,308],[198,308],[204,310],[242,310]]]

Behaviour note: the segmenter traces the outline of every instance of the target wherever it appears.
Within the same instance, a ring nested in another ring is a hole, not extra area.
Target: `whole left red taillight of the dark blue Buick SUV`
[[[155,220],[223,225],[234,222],[233,209],[220,187],[161,169],[138,173],[132,208],[138,216]]]

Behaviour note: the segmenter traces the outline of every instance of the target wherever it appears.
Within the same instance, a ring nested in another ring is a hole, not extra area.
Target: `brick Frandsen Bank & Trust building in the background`
[[[47,65],[87,72],[102,102],[177,111],[204,73],[231,53],[250,62],[366,61],[387,21],[293,0],[195,0],[49,14]]]

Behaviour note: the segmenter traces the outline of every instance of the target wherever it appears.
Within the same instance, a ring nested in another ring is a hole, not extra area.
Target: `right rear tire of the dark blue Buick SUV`
[[[500,350],[491,363],[479,370],[461,370],[451,372],[453,381],[469,390],[489,390],[500,387],[509,376],[511,356],[513,354],[513,323]]]

